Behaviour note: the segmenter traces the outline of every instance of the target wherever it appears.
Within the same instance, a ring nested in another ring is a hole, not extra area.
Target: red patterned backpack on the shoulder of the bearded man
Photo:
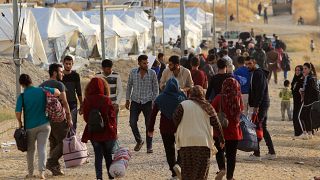
[[[52,122],[62,122],[66,119],[66,112],[59,98],[43,89],[46,97],[46,115]]]

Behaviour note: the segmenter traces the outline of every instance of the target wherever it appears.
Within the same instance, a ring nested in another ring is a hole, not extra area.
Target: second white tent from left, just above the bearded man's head
[[[66,19],[54,8],[33,8],[48,62],[59,62],[71,48],[76,48],[79,28]]]

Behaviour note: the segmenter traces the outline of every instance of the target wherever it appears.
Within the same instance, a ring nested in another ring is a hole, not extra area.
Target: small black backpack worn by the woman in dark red
[[[101,100],[98,108],[92,108],[89,112],[88,131],[90,133],[101,133],[105,130],[105,122],[103,120],[100,108],[104,99]]]

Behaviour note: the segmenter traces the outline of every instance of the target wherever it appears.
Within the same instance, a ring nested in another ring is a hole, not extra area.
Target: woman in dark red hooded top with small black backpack
[[[92,78],[85,89],[83,102],[83,118],[87,123],[83,132],[82,141],[91,141],[95,155],[96,178],[102,180],[102,160],[106,161],[109,179],[114,179],[109,168],[112,163],[112,148],[117,139],[116,114],[109,98],[108,83],[102,78]],[[92,110],[98,109],[105,127],[102,132],[89,132],[88,121]]]

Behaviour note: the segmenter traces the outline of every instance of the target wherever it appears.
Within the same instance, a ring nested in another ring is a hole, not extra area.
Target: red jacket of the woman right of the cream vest
[[[211,105],[218,113],[220,110],[220,102],[221,102],[221,96],[217,95],[214,100],[212,101]],[[240,114],[237,118],[231,118],[230,113],[228,112],[228,109],[223,108],[224,113],[227,116],[227,119],[229,120],[228,127],[223,129],[224,139],[225,140],[242,140],[242,131],[240,128]]]

